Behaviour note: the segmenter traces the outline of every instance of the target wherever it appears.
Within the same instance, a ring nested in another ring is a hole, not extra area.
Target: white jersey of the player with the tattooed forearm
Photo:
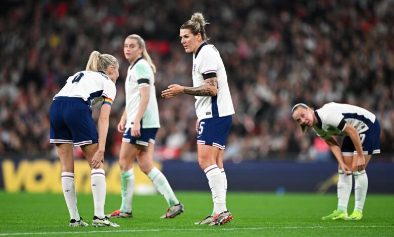
[[[194,96],[195,111],[199,120],[235,113],[222,58],[214,45],[205,42],[193,55],[193,87],[204,85],[204,76],[210,73],[216,73],[218,93],[216,96]]]

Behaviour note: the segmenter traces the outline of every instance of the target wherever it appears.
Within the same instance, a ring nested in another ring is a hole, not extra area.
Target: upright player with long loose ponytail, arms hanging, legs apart
[[[137,157],[142,172],[167,201],[168,209],[161,218],[174,218],[184,211],[184,206],[175,197],[164,174],[153,163],[155,137],[160,128],[154,76],[156,67],[139,35],[129,35],[123,51],[130,67],[125,83],[126,107],[118,124],[118,131],[123,133],[119,155],[122,204],[119,210],[107,216],[132,217],[133,162]]]

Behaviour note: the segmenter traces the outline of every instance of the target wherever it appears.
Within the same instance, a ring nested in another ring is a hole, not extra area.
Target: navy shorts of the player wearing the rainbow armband
[[[50,143],[82,146],[98,142],[91,108],[82,98],[56,97],[50,108]]]

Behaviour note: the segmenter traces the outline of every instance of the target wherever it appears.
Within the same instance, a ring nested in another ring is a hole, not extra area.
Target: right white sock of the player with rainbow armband
[[[102,219],[104,215],[104,204],[106,203],[106,173],[104,169],[91,170],[91,192],[93,194],[94,215]]]

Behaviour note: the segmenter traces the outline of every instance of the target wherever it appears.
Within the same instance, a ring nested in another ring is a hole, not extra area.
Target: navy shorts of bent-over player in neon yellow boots
[[[375,119],[375,123],[371,123],[367,131],[359,135],[364,155],[380,153],[380,125],[377,118]],[[357,154],[352,139],[349,136],[343,138],[341,150],[344,156],[353,156]]]

